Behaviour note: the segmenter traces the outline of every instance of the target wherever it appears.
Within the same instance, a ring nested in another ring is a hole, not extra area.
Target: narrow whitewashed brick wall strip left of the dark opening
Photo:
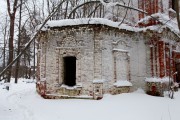
[[[57,61],[56,61],[56,39],[58,39],[58,33],[47,31],[46,38],[46,93],[53,93],[58,87],[58,73],[56,71]]]

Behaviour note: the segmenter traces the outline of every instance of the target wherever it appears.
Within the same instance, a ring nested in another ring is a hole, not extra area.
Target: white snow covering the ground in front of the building
[[[24,82],[23,82],[24,81]],[[43,99],[35,83],[21,79],[10,90],[0,83],[0,120],[179,120],[180,92],[175,99],[133,93],[104,95],[102,100]]]

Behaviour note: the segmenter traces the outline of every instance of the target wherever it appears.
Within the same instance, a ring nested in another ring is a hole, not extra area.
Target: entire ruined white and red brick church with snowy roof
[[[159,9],[158,0],[149,0],[149,8],[143,1],[138,8],[154,16],[138,13],[136,26],[105,18],[48,21],[37,38],[38,93],[50,99],[101,99],[146,89],[147,77],[178,80],[173,74],[180,62],[178,30],[165,24],[160,13],[166,9]]]

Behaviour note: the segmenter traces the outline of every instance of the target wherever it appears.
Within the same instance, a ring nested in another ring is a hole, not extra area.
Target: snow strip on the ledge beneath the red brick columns
[[[145,79],[146,82],[161,82],[161,83],[168,83],[170,80],[171,79],[169,79],[169,77],[164,77],[164,78],[152,77],[152,78]]]

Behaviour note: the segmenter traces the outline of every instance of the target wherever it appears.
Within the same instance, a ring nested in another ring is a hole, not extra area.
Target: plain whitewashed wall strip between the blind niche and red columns
[[[133,37],[132,47],[130,50],[130,70],[131,82],[133,89],[144,88],[145,77],[148,72],[147,66],[147,49],[145,45],[146,38],[139,34]]]

